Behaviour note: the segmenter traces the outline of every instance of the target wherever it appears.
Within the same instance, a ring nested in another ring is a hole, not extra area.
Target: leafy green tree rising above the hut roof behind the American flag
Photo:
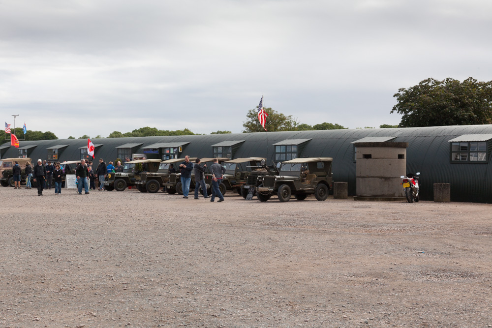
[[[274,111],[272,108],[264,108],[268,117],[265,128],[270,131],[295,131],[299,122],[292,118],[292,115],[285,116],[282,113]],[[246,114],[246,121],[243,122],[245,128],[243,132],[266,132],[258,120],[258,111],[256,108],[250,109]]]

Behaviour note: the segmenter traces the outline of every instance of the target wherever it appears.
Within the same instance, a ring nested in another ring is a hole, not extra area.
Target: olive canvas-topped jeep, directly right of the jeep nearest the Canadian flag
[[[190,161],[194,161],[195,158],[190,158]],[[140,181],[136,181],[137,186],[145,188],[150,193],[159,191],[161,187],[165,187],[165,191],[172,195],[177,192],[177,187],[180,179],[177,179],[179,175],[179,165],[184,161],[184,158],[171,158],[159,163],[159,167],[156,172],[142,172],[140,174]],[[173,165],[173,168],[178,173],[169,173],[169,168]],[[172,183],[170,183],[172,179]],[[180,185],[181,186],[181,182]],[[139,189],[140,190],[140,189]],[[164,190],[163,190],[164,191]],[[181,191],[183,193],[183,191]]]

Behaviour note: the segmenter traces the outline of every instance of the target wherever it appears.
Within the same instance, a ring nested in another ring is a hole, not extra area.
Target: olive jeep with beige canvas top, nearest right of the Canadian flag
[[[138,159],[124,163],[123,172],[108,173],[107,179],[104,181],[104,189],[111,191],[123,191],[128,186],[136,186],[138,191],[147,192],[145,185],[137,184],[140,180],[141,169],[140,165],[147,165],[148,172],[156,172],[159,168],[160,159]]]

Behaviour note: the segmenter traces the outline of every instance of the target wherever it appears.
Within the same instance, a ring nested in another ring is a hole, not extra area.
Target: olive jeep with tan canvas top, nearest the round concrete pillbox
[[[261,176],[256,187],[256,198],[268,201],[273,195],[280,202],[288,202],[291,195],[303,201],[310,194],[318,201],[328,197],[332,187],[332,161],[330,157],[296,158],[282,162],[277,176]]]

